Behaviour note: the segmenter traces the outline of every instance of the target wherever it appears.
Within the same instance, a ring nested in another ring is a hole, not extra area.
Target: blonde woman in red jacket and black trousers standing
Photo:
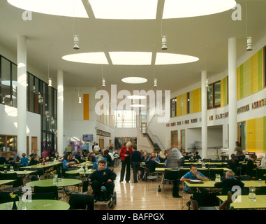
[[[120,182],[124,181],[125,169],[126,169],[126,182],[128,183],[131,179],[131,154],[133,153],[131,146],[132,146],[131,141],[128,141],[126,143],[126,146],[123,146],[119,153],[119,155],[121,155],[121,161],[122,161]]]

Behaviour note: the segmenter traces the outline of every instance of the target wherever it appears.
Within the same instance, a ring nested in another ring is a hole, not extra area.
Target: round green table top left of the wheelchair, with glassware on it
[[[61,182],[57,183],[57,187],[67,187],[67,186],[73,186],[82,183],[82,181],[77,179],[61,179]],[[34,188],[35,186],[38,187],[49,187],[54,186],[52,183],[52,179],[47,180],[40,180],[40,181],[31,181],[29,183],[26,183],[27,186]]]

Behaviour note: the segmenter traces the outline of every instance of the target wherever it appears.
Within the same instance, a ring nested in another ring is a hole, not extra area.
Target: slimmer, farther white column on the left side
[[[57,152],[64,153],[64,72],[57,71]]]

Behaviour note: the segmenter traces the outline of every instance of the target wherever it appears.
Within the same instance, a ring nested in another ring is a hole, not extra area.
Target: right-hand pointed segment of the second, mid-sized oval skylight
[[[190,55],[179,55],[179,54],[171,54],[171,53],[156,53],[156,65],[161,64],[185,64],[198,61],[198,57],[190,56]]]

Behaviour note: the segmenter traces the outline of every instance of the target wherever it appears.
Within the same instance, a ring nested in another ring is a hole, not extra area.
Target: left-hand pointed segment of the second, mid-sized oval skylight
[[[87,64],[109,64],[104,52],[87,52],[62,57],[69,62],[80,62]]]

